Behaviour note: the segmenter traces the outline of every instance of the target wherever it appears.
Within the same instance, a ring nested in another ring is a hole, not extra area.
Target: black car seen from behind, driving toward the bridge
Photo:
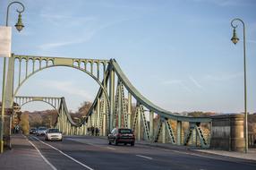
[[[118,145],[118,143],[124,143],[124,145],[130,143],[131,146],[134,146],[135,143],[135,136],[132,129],[127,128],[114,128],[112,132],[108,134],[107,139],[109,145],[113,142],[115,145]]]

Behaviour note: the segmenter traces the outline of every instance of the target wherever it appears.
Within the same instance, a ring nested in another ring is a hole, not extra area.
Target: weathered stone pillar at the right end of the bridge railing
[[[244,115],[215,115],[211,118],[210,148],[244,151]]]

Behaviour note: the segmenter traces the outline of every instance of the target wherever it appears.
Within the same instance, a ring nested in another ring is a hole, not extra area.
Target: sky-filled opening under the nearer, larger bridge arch
[[[73,112],[76,111],[84,101],[92,103],[100,88],[98,81],[90,79],[91,76],[84,76],[84,72],[81,72],[81,70],[77,68],[50,66],[40,71],[42,72],[38,71],[32,74],[25,81],[22,81],[20,86],[16,86],[17,88],[15,87],[16,92],[14,95],[53,96],[52,94],[54,94],[55,97],[65,97],[68,107],[70,108],[71,106],[71,111]]]

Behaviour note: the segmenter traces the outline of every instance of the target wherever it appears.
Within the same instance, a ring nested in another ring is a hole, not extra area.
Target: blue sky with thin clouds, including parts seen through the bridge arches
[[[10,2],[0,2],[1,25]],[[115,58],[141,94],[172,112],[243,112],[243,41],[230,41],[230,21],[239,17],[246,24],[248,110],[256,112],[256,1],[21,2],[25,28],[13,29],[14,54]],[[9,25],[14,25],[14,5],[10,12]],[[2,78],[2,58],[0,63]],[[19,95],[64,96],[77,110],[97,90],[88,75],[60,67],[38,72]],[[24,109],[46,107],[31,103]]]

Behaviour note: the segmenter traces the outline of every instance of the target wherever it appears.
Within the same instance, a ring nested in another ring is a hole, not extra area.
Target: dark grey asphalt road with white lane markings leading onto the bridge
[[[256,163],[231,157],[213,156],[191,150],[161,149],[139,145],[108,145],[95,137],[64,137],[63,141],[45,141],[30,136],[52,169],[256,169]]]

